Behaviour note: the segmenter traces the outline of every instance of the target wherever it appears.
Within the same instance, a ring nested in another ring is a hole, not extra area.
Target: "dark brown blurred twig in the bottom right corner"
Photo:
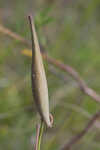
[[[76,144],[85,134],[89,131],[89,129],[94,125],[96,120],[100,118],[100,111],[98,111],[88,122],[87,126],[76,136],[72,137],[72,139],[64,145],[61,150],[70,150],[74,144]]]

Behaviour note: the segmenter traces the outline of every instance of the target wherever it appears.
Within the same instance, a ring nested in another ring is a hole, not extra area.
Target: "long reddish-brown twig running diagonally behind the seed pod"
[[[28,47],[31,46],[29,41],[25,40],[23,37],[10,31],[9,29],[3,27],[2,25],[0,25],[0,32],[6,34],[16,40],[19,40],[20,42],[22,42],[23,44],[25,44]],[[56,67],[58,67],[59,69],[65,71],[65,72],[68,72],[77,81],[81,91],[83,91],[88,96],[92,97],[95,101],[100,102],[100,95],[97,94],[93,89],[89,88],[87,86],[87,84],[85,83],[85,81],[80,78],[79,74],[72,67],[70,67],[69,65],[65,65],[61,61],[58,61],[58,60],[48,56],[47,53],[44,51],[42,51],[42,55],[43,55],[43,58],[45,60],[47,60],[47,62],[49,62],[50,64],[53,64]]]

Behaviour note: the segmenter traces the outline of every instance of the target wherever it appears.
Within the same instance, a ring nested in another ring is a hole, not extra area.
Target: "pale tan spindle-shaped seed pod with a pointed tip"
[[[32,93],[41,119],[48,127],[51,127],[47,80],[35,26],[31,16],[29,16],[29,22],[32,36]]]

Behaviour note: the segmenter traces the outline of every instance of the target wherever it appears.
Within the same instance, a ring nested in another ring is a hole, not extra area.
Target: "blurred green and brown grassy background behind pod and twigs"
[[[99,0],[0,0],[0,25],[30,39],[32,14],[41,45],[53,58],[72,66],[100,93]],[[39,122],[31,90],[31,57],[22,42],[0,32],[0,150],[32,150]],[[77,82],[44,61],[52,129],[45,129],[41,149],[58,150],[79,133],[100,105]],[[65,81],[66,78],[66,81]],[[100,150],[100,125],[72,150]]]

